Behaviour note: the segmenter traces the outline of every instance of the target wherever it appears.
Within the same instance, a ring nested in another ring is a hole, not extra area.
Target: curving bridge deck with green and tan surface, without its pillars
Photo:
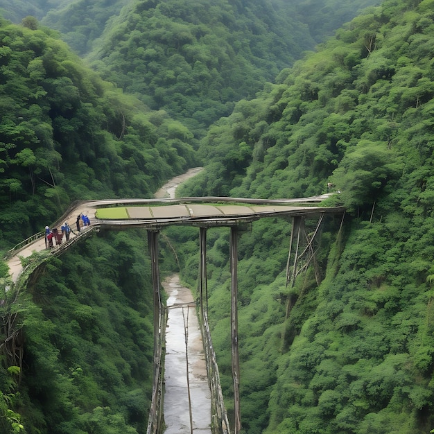
[[[164,199],[113,199],[75,202],[57,222],[50,227],[60,227],[64,221],[76,229],[76,218],[87,214],[91,226],[76,234],[71,234],[68,243],[56,246],[53,253],[60,253],[77,237],[95,229],[128,229],[144,227],[160,229],[168,225],[192,225],[198,227],[233,226],[270,216],[308,216],[315,214],[342,213],[341,207],[315,207],[311,204],[322,202],[332,196],[324,194],[298,199],[248,199],[222,198],[164,198]],[[210,205],[210,202],[215,202]],[[241,205],[243,204],[243,205]],[[116,216],[112,209],[116,208]],[[111,216],[109,218],[109,216]],[[45,226],[45,225],[44,225]],[[41,228],[42,229],[42,228]],[[13,281],[17,281],[22,271],[21,257],[29,257],[33,252],[45,250],[44,232],[22,241],[8,252],[6,257]]]

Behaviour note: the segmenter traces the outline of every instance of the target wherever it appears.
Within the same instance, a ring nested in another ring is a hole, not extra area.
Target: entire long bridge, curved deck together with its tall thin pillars
[[[211,403],[213,432],[228,433],[229,422],[225,412],[223,397],[220,390],[218,367],[211,342],[207,321],[207,229],[210,227],[229,227],[229,256],[231,268],[231,338],[232,338],[232,377],[234,385],[234,428],[235,434],[241,430],[241,410],[239,400],[240,367],[238,356],[238,313],[237,313],[237,238],[238,232],[254,220],[265,217],[289,216],[293,220],[290,236],[290,248],[286,267],[286,284],[293,285],[300,272],[306,270],[309,264],[315,266],[315,241],[320,232],[324,216],[344,214],[342,207],[315,206],[329,198],[331,194],[313,196],[300,199],[262,200],[248,198],[166,198],[166,199],[119,199],[119,200],[91,200],[75,202],[67,212],[54,223],[60,226],[66,220],[72,223],[80,214],[87,214],[91,225],[83,227],[80,232],[73,234],[69,241],[55,246],[51,254],[61,254],[74,243],[87,238],[90,234],[103,229],[125,230],[132,227],[143,227],[148,232],[148,247],[153,277],[154,293],[154,379],[153,399],[150,408],[148,434],[161,432],[163,423],[160,410],[163,394],[162,378],[162,346],[164,343],[165,315],[160,297],[161,284],[159,281],[158,265],[158,234],[161,229],[170,225],[189,225],[198,227],[200,238],[200,285],[199,285],[199,320],[204,336],[204,350],[207,361],[209,385],[211,389]],[[318,219],[316,229],[306,233],[304,220]],[[24,269],[21,258],[26,258],[32,252],[46,250],[43,232],[35,234],[12,248],[6,257],[10,267],[12,280],[24,286],[28,275],[33,272],[39,262],[31,263]],[[26,277],[27,276],[27,277]]]

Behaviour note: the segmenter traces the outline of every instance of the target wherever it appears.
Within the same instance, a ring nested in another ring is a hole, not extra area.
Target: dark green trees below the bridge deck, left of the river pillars
[[[94,236],[28,286],[26,433],[146,433],[153,291],[143,238]]]

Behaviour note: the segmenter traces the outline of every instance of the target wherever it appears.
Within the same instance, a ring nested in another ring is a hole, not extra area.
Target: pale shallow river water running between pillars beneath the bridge
[[[168,295],[164,434],[193,433],[193,430],[211,434],[211,394],[193,297],[189,288],[180,284],[178,275],[168,277],[163,287]]]

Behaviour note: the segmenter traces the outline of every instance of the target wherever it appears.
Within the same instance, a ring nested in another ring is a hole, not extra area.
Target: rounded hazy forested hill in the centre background
[[[89,59],[149,107],[203,129],[313,47],[289,12],[267,0],[137,1]]]

